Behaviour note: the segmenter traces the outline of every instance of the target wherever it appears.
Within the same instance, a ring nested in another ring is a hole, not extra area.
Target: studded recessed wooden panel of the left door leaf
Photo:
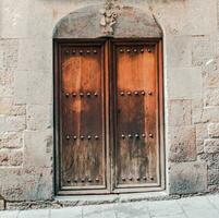
[[[104,48],[68,46],[61,53],[61,186],[104,189]]]

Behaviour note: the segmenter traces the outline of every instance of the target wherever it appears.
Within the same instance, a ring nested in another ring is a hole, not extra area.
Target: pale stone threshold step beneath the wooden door
[[[162,201],[175,196],[169,195],[166,191],[147,192],[147,193],[129,193],[129,194],[105,194],[105,195],[74,195],[74,196],[56,196],[54,201],[63,206],[78,205],[98,205],[111,203],[125,203],[138,201]]]

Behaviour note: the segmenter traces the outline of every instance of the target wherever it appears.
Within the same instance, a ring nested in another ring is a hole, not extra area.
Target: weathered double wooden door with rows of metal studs
[[[159,40],[56,43],[59,194],[162,189]]]

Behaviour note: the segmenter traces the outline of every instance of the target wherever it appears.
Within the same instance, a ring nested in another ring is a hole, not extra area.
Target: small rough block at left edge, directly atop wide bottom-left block
[[[23,150],[0,150],[0,166],[11,167],[23,164]]]

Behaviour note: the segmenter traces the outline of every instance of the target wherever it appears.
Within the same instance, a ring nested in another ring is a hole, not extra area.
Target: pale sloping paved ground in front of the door
[[[0,211],[0,218],[219,218],[219,195],[61,209]]]

